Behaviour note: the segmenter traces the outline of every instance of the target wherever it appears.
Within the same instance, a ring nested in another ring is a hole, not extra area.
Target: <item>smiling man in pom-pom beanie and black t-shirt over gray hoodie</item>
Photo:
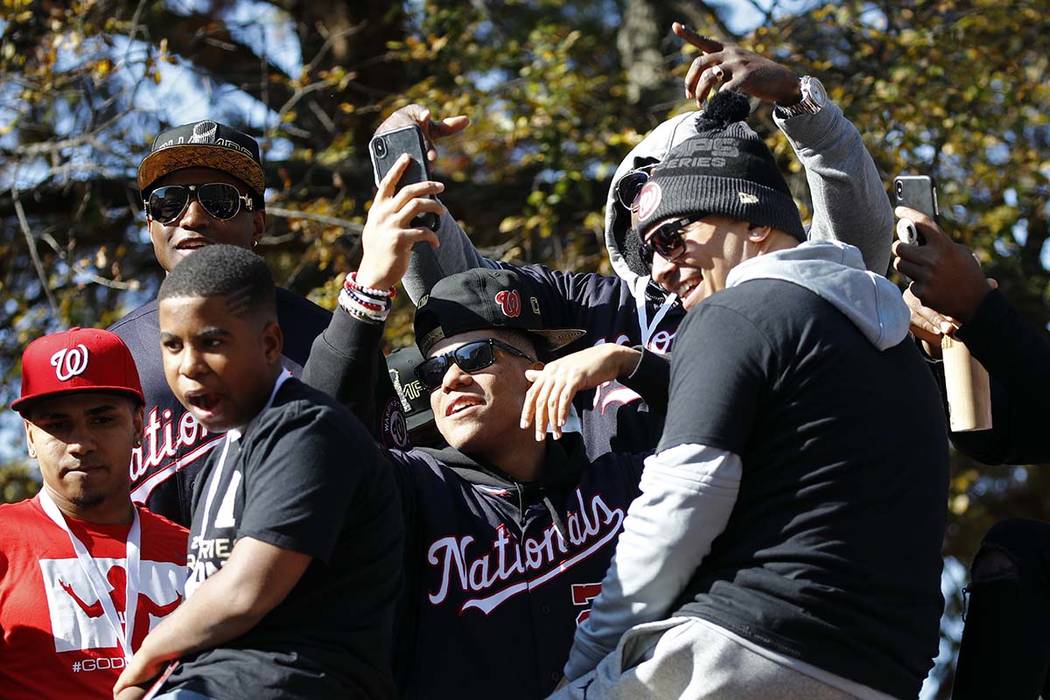
[[[947,443],[900,292],[807,241],[719,93],[639,193],[689,313],[670,405],[559,698],[916,697],[938,652]]]

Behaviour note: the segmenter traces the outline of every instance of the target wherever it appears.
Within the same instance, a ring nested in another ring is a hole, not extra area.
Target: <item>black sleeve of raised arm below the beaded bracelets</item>
[[[383,326],[359,321],[342,309],[314,339],[302,381],[346,406],[377,440],[381,411],[394,384],[386,374],[380,344]]]

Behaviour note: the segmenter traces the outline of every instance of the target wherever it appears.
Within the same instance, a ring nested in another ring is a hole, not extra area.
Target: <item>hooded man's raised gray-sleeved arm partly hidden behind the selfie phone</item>
[[[469,120],[464,115],[432,119],[430,110],[422,105],[412,104],[398,109],[376,129],[376,135],[405,126],[418,126],[426,144],[426,157],[432,163],[438,157],[435,140],[459,133],[467,127]],[[495,268],[498,263],[481,255],[474,247],[466,232],[460,227],[447,209],[440,212],[437,236],[440,248],[419,246],[413,249],[402,276],[404,290],[413,303],[430,291],[439,279],[465,272],[474,268]]]

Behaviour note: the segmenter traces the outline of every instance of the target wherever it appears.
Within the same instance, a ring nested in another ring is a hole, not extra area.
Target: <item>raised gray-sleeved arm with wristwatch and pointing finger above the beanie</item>
[[[819,81],[733,44],[699,37],[675,23],[678,37],[704,54],[686,76],[686,97],[702,108],[712,89],[736,89],[775,105],[774,121],[805,169],[813,197],[813,240],[860,249],[868,270],[889,267],[892,210],[860,132]]]

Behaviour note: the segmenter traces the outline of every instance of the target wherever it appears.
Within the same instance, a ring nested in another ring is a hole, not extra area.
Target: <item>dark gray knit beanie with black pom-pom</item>
[[[653,168],[638,194],[638,231],[675,216],[720,214],[805,240],[805,230],[773,153],[744,123],[751,107],[722,91],[697,120],[697,135]]]

